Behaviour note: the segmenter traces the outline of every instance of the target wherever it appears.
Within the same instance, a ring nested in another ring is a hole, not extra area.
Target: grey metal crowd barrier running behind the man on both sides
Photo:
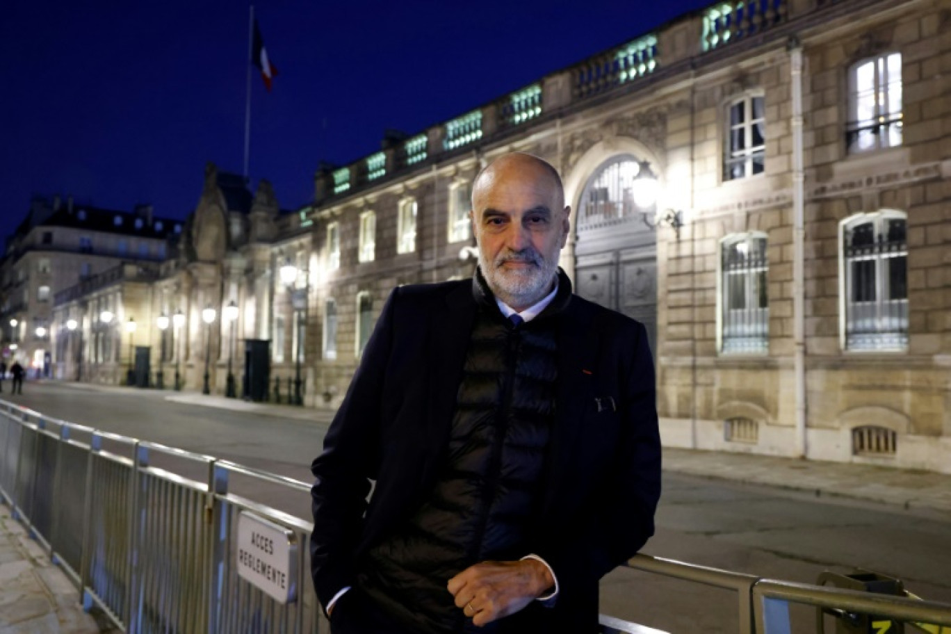
[[[0,400],[0,498],[122,631],[318,634],[311,523],[229,490],[234,477],[306,496],[308,484],[212,456],[57,420]],[[156,462],[175,461],[190,475]],[[275,598],[237,570],[253,513],[286,536],[290,578]],[[762,579],[637,555],[629,567],[736,593],[739,634],[789,634],[789,605],[951,626],[951,605]],[[602,615],[604,634],[658,632]],[[662,634],[662,633],[660,633]]]

